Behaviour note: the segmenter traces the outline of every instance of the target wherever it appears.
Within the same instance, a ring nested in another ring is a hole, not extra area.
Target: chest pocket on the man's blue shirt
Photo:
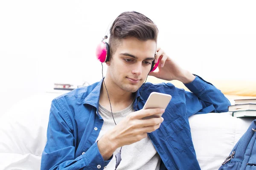
[[[183,116],[170,122],[164,129],[164,135],[175,153],[186,150],[193,145],[190,127]]]

